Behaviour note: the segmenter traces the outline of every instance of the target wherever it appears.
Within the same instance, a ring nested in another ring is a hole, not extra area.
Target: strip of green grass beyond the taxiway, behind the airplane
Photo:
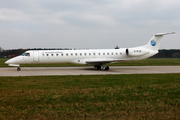
[[[0,59],[0,67],[8,67],[4,62],[7,59]],[[163,66],[163,65],[180,65],[180,59],[145,59],[140,61],[123,61],[113,64],[110,66]],[[21,67],[70,67],[70,66],[85,66],[71,63],[60,63],[60,64],[30,64],[30,65],[21,65]]]

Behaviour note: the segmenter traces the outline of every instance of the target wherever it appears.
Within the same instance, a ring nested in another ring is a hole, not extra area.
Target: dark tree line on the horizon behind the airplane
[[[18,55],[21,55],[27,50],[72,50],[69,48],[34,48],[34,49],[11,49],[4,50],[0,47],[0,58],[12,58]],[[180,49],[162,49],[159,50],[159,53],[152,56],[151,58],[180,58]]]

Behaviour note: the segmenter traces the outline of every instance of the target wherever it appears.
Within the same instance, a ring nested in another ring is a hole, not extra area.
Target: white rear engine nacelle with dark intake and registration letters
[[[138,57],[148,54],[150,51],[145,48],[127,48],[126,55],[132,57]]]

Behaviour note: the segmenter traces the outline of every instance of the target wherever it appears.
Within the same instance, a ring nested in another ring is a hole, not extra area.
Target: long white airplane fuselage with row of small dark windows
[[[134,51],[142,53],[140,49]],[[132,53],[134,53],[132,51]],[[18,66],[19,64],[43,64],[43,63],[76,63],[101,65],[125,60],[141,60],[157,53],[148,51],[142,55],[127,55],[126,49],[97,49],[97,50],[30,50],[28,56],[21,55],[7,61],[7,64]],[[96,62],[97,61],[97,62]]]

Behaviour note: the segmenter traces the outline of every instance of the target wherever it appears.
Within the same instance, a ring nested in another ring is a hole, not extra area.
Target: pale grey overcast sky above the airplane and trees
[[[180,0],[0,0],[0,47],[180,49]]]

